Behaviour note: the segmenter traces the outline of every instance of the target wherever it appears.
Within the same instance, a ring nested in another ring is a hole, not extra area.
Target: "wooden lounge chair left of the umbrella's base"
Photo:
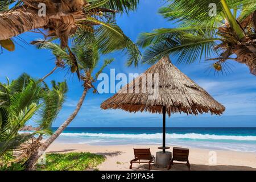
[[[134,150],[134,159],[131,160],[130,169],[133,168],[133,163],[148,163],[148,169],[150,170],[151,163],[155,165],[155,157],[151,155],[150,148],[133,148]],[[142,160],[142,161],[141,161]],[[139,161],[139,162],[138,162]]]

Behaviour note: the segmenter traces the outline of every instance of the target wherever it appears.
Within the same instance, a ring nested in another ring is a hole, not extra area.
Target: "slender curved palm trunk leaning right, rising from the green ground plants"
[[[84,89],[84,92],[82,92],[82,96],[79,100],[79,102],[77,103],[76,109],[73,111],[73,113],[69,116],[69,118],[55,131],[54,134],[51,135],[51,137],[49,137],[46,142],[44,142],[43,146],[41,146],[39,148],[38,151],[35,152],[35,154],[33,154],[24,164],[24,166],[26,167],[26,170],[31,170],[36,162],[38,161],[38,159],[40,158],[40,156],[43,154],[43,152],[45,152],[47,150],[47,148],[52,144],[52,142],[54,142],[54,140],[59,137],[59,135],[65,130],[65,128],[69,125],[69,123],[71,123],[73,121],[73,119],[76,117],[77,113],[79,113],[79,110],[82,107],[82,103],[84,102],[86,93],[87,93],[88,89]]]

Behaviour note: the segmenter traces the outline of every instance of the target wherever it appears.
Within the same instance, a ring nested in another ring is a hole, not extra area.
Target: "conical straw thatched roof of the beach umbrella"
[[[142,84],[143,76],[149,73],[158,73],[159,82],[147,79],[146,84]],[[145,85],[154,87],[154,84],[158,84],[158,96],[155,99],[148,99],[151,92],[142,90]],[[137,92],[135,91],[136,86],[139,86],[139,92],[138,87]],[[163,57],[144,74],[123,86],[117,94],[101,104],[102,109],[123,109],[129,112],[150,111],[151,113],[162,113],[163,106],[166,106],[166,113],[169,117],[171,113],[181,112],[195,115],[199,113],[220,115],[225,110],[223,105],[177,69],[168,56]]]

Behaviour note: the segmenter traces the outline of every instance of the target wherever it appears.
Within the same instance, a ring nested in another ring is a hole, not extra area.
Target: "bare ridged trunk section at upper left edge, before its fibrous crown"
[[[48,22],[48,16],[40,17],[38,10],[29,7],[21,6],[16,10],[5,11],[0,13],[0,40],[13,38],[35,28],[42,28]]]

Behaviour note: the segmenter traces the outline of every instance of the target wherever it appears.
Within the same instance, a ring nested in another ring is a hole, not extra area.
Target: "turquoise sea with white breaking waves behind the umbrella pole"
[[[53,128],[53,131],[56,128]],[[167,145],[256,152],[256,127],[167,127]],[[68,127],[61,143],[160,144],[161,127]]]

